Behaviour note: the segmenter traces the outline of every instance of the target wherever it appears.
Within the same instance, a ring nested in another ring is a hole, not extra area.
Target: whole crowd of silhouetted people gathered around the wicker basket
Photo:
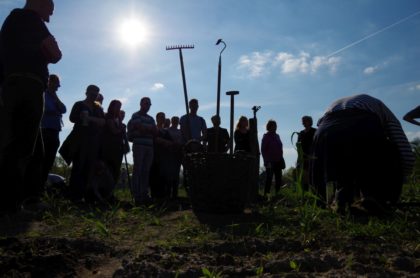
[[[143,97],[126,125],[122,102],[112,100],[105,112],[104,96],[96,85],[87,86],[85,98],[72,106],[73,129],[60,147],[67,109],[57,95],[60,78],[48,72],[48,64],[62,56],[45,25],[53,10],[52,0],[27,0],[23,9],[10,13],[1,29],[2,210],[14,210],[28,199],[39,201],[57,152],[72,166],[66,196],[74,202],[92,203],[112,202],[117,183],[130,181],[128,169],[123,173],[121,169],[124,155],[132,152],[130,189],[136,205],[177,198],[186,151],[226,153],[234,140],[235,152],[251,152],[245,116],[229,134],[218,115],[211,118],[213,126],[207,127],[197,114],[197,99],[189,101],[186,115],[169,118],[164,112],[150,116],[151,99]],[[420,106],[404,116],[420,125],[416,118],[420,118]],[[398,201],[415,158],[400,122],[384,103],[366,94],[342,98],[326,110],[317,129],[310,116],[304,116],[302,124],[296,168],[304,191],[312,189],[327,200],[332,184],[341,211],[360,197],[383,205]],[[266,124],[261,154],[267,196],[273,178],[275,193],[280,190],[286,168],[274,120]]]

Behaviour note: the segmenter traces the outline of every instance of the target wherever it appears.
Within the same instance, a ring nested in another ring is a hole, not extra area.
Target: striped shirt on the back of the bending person
[[[408,142],[407,136],[405,135],[400,121],[395,117],[395,115],[389,110],[385,104],[366,94],[355,95],[350,97],[341,98],[336,100],[325,112],[325,115],[333,113],[336,111],[341,111],[345,109],[359,109],[367,112],[371,112],[379,117],[379,120],[382,123],[382,126],[385,129],[385,134],[397,145],[402,168],[404,171],[404,176],[408,177],[411,175],[413,170],[413,165],[415,161],[415,156]],[[322,122],[322,118],[318,121],[318,125]]]

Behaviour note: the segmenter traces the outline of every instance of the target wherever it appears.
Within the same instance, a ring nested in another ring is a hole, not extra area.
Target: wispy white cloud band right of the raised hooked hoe
[[[340,61],[340,57],[311,56],[304,51],[297,55],[288,52],[274,54],[266,51],[242,55],[238,60],[238,68],[245,69],[251,78],[266,75],[277,68],[282,74],[314,74],[323,68],[334,73]]]

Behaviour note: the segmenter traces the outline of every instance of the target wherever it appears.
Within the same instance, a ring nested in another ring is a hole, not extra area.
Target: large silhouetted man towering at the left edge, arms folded
[[[26,0],[1,27],[0,210],[16,210],[41,180],[40,171],[28,165],[35,151],[42,155],[39,127],[48,64],[62,56],[45,24],[53,11],[52,0]]]

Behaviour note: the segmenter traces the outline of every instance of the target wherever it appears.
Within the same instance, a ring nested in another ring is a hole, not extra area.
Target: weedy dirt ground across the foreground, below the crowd
[[[420,186],[381,216],[338,215],[296,185],[242,214],[194,212],[188,198],[109,205],[45,195],[47,208],[5,215],[0,273],[9,277],[406,276],[420,271]],[[416,205],[417,204],[417,205]],[[48,269],[48,272],[46,271]]]

